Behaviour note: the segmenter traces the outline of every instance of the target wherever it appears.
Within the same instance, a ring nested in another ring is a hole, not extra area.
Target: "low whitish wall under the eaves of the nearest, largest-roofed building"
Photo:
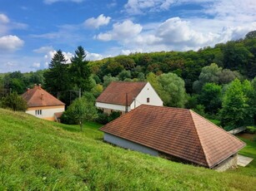
[[[116,144],[125,149],[133,149],[142,153],[158,156],[158,151],[155,149],[148,148],[146,146],[143,146],[142,144],[137,144],[129,140],[124,140],[118,136],[110,135],[108,133],[104,133],[104,140],[108,143]]]

